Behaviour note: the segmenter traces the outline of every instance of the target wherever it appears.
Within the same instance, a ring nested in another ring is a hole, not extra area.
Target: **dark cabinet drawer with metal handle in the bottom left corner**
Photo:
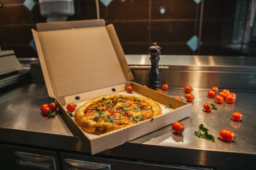
[[[3,169],[59,169],[56,152],[8,145],[0,145],[0,152]]]

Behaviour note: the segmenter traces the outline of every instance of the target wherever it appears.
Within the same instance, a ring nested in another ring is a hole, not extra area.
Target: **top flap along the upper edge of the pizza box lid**
[[[65,30],[72,28],[88,28],[88,27],[104,27],[104,19],[91,19],[81,21],[68,21],[68,22],[47,22],[37,23],[37,31],[51,31],[51,30]]]

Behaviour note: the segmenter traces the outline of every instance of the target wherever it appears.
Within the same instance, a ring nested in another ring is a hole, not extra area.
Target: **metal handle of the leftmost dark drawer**
[[[54,157],[24,152],[14,152],[14,154],[16,155],[15,160],[17,165],[56,170]]]

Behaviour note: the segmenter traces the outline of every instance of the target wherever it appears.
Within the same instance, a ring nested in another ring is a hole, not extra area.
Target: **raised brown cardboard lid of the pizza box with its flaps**
[[[83,20],[37,24],[32,29],[50,97],[106,88],[133,75],[112,24]]]

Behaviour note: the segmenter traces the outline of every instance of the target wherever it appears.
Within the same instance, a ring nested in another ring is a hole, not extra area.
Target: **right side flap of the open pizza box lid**
[[[120,44],[120,41],[118,39],[118,36],[116,34],[116,31],[115,31],[115,28],[114,28],[113,24],[109,24],[108,26],[106,26],[106,29],[109,33],[109,36],[110,36],[110,39],[112,41],[113,47],[115,49],[116,55],[118,57],[119,63],[121,65],[122,69],[123,69],[125,79],[126,79],[126,81],[132,81],[133,80],[133,75],[132,75],[130,67],[127,63],[125,53],[124,53],[123,48]]]

